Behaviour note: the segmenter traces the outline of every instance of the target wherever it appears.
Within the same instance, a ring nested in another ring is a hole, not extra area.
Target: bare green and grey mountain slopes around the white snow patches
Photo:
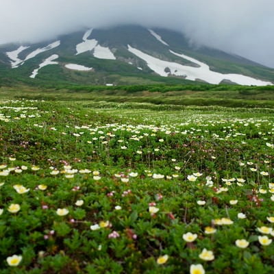
[[[0,86],[9,86],[11,84],[27,84],[34,86],[75,86],[80,85],[96,85],[105,86],[105,84],[121,85],[192,85],[199,82],[191,82],[184,77],[160,77],[153,73],[147,63],[136,55],[130,53],[127,45],[136,47],[141,51],[170,62],[177,62],[188,66],[197,66],[172,54],[169,50],[177,53],[184,53],[192,58],[204,62],[210,66],[212,71],[219,73],[238,73],[250,77],[274,82],[274,70],[266,66],[257,64],[237,55],[232,55],[210,49],[208,47],[197,47],[190,45],[189,40],[182,34],[171,32],[164,29],[155,29],[162,36],[162,39],[168,42],[169,47],[163,45],[155,37],[153,37],[147,29],[138,26],[117,26],[112,29],[94,29],[90,38],[96,39],[99,45],[109,47],[116,60],[106,60],[94,58],[92,52],[75,55],[76,45],[82,41],[84,29],[82,32],[76,32],[60,37],[60,46],[50,51],[46,51],[36,55],[24,62],[22,66],[11,69],[10,60],[5,54],[7,51],[16,49],[16,45],[2,45],[0,47]],[[52,41],[51,41],[52,42]],[[18,58],[23,60],[29,53],[49,45],[49,42],[42,42],[30,45],[28,49],[22,51]],[[34,69],[38,69],[45,59],[52,54],[57,54],[58,65],[44,66],[40,69],[35,79],[29,78]],[[82,64],[92,67],[92,71],[73,71],[66,69],[65,64]],[[141,69],[138,69],[141,68]]]

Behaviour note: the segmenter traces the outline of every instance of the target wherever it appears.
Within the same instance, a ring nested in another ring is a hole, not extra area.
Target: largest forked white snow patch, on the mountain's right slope
[[[195,64],[198,64],[199,67],[192,67],[192,66],[184,66],[182,64],[177,64],[175,62],[167,62],[160,60],[158,58],[155,58],[147,53],[143,53],[142,51],[139,51],[138,49],[134,49],[130,45],[127,45],[128,50],[136,55],[138,58],[145,60],[147,62],[147,66],[152,71],[155,71],[155,73],[158,73],[161,76],[167,77],[169,75],[177,75],[177,76],[183,76],[186,79],[195,81],[196,79],[201,79],[203,81],[206,81],[210,84],[220,84],[220,82],[223,81],[223,79],[228,79],[229,81],[232,81],[236,84],[240,85],[247,85],[247,86],[266,86],[266,85],[272,85],[271,82],[264,82],[258,79],[254,79],[252,77],[248,77],[245,75],[240,74],[222,74],[222,73],[216,73],[214,71],[210,71],[210,68],[207,64],[204,64],[203,62],[199,62],[198,60],[194,58],[190,58],[187,55],[175,53],[174,51],[171,51],[171,53],[182,57],[186,60],[189,60],[191,62],[194,62]],[[169,68],[169,69],[166,69]]]

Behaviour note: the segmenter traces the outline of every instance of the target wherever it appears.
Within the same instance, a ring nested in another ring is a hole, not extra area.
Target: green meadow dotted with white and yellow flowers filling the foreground
[[[270,109],[0,102],[0,273],[274,273]]]

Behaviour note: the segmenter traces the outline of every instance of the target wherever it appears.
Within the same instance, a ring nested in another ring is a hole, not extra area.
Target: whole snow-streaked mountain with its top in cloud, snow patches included
[[[265,86],[274,69],[135,25],[84,29],[36,44],[0,45],[0,85],[207,82]]]

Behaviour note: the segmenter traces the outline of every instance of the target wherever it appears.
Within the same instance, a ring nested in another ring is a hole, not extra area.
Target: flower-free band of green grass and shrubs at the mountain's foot
[[[218,105],[232,108],[273,108],[274,86],[234,86],[210,84],[79,86],[48,84],[40,87],[0,88],[0,98],[152,103],[182,109],[187,105]]]

